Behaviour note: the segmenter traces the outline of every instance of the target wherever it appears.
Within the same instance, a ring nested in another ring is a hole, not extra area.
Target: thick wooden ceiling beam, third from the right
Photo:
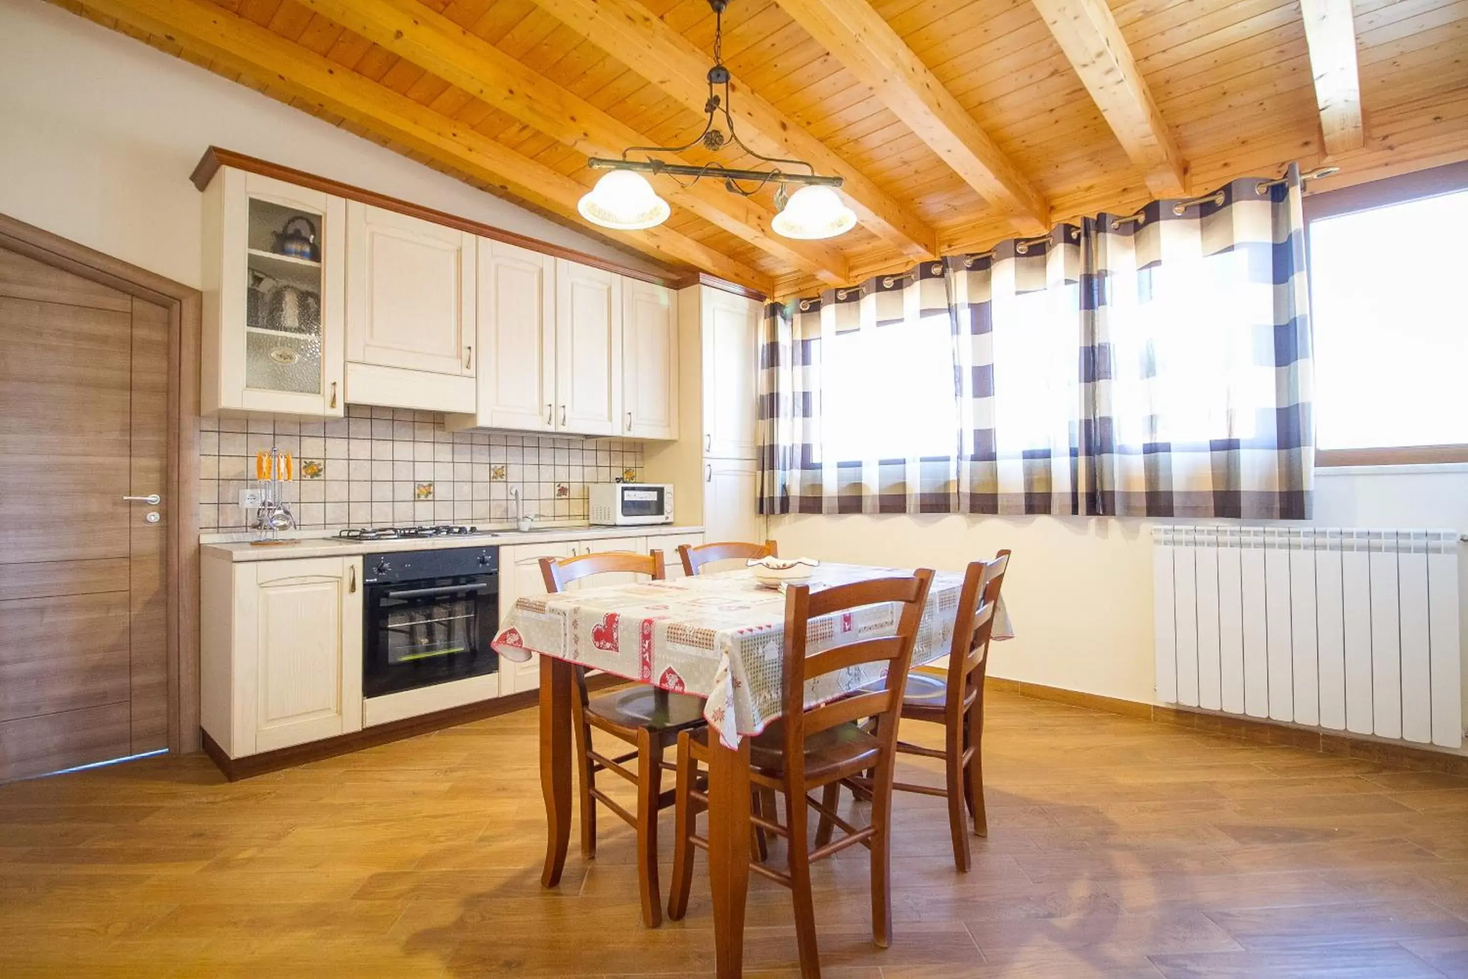
[[[1025,235],[1048,230],[1050,204],[1044,194],[1004,156],[868,0],[778,3],[818,44],[872,88],[969,186],[991,205],[1009,213],[1016,230]]]

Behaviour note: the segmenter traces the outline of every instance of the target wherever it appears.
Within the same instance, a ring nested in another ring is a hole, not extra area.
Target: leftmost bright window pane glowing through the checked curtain
[[[821,368],[821,449],[831,461],[957,451],[948,314],[837,333]]]

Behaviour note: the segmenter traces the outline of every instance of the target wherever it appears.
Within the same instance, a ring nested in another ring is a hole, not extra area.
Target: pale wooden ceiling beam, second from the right
[[[1111,132],[1158,197],[1188,194],[1188,164],[1107,0],[1032,0]]]

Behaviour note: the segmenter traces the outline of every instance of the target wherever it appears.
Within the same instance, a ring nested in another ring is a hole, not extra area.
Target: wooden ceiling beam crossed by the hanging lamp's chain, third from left
[[[534,0],[546,13],[656,85],[688,112],[702,116],[708,98],[709,54],[668,26],[637,0]],[[740,139],[756,153],[810,161],[822,173],[846,181],[841,192],[873,235],[910,258],[937,255],[937,232],[909,207],[882,191],[800,123],[731,79],[730,110]]]

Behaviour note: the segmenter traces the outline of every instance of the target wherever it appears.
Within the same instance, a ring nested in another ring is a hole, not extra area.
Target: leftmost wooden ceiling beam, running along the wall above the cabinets
[[[200,0],[85,0],[82,6],[115,18],[119,28],[166,38],[186,54],[286,91],[600,236],[766,294],[772,288],[765,273],[666,228],[611,232],[589,226],[575,210],[586,192],[577,181],[222,7]]]

